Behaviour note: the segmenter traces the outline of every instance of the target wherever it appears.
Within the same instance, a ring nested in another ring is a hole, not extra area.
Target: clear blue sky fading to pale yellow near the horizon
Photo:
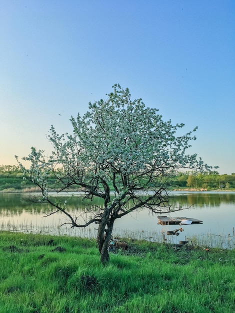
[[[0,0],[0,164],[50,151],[51,124],[69,132],[120,83],[235,172],[234,16],[234,0]]]

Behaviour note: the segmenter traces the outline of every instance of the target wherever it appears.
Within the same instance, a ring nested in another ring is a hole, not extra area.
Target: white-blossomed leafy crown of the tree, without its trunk
[[[182,135],[182,123],[163,121],[157,109],[145,107],[141,99],[131,101],[129,90],[118,84],[106,101],[89,103],[88,112],[70,121],[72,134],[58,135],[51,126],[48,139],[54,151],[48,159],[42,150],[32,147],[23,158],[30,161],[30,168],[19,162],[23,179],[37,184],[44,199],[48,177],[55,168],[55,176],[65,187],[75,184],[95,195],[100,188],[108,192],[111,184],[118,195],[107,204],[109,207],[128,189],[153,188],[156,183],[159,187],[165,181],[162,177],[179,168],[209,168],[196,154],[185,152],[195,139],[192,132],[196,127]]]

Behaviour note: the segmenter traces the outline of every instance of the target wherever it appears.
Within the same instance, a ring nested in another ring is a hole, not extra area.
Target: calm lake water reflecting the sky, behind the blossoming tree
[[[200,219],[202,224],[183,225],[179,235],[167,235],[168,230],[179,228],[178,225],[159,225],[156,215],[141,209],[117,219],[114,223],[113,236],[131,237],[151,241],[178,243],[189,240],[193,244],[235,247],[235,192],[171,192],[170,203],[180,204],[188,209],[172,212],[171,217],[184,216]],[[70,228],[63,225],[64,214],[57,212],[44,217],[49,212],[47,204],[32,203],[26,200],[25,193],[0,193],[0,230],[24,231],[32,233],[47,233],[51,235],[71,235],[81,237],[96,237],[97,224],[86,228]],[[86,209],[86,204],[79,196],[62,197],[69,201],[70,213],[80,215]],[[97,205],[101,205],[101,201]]]

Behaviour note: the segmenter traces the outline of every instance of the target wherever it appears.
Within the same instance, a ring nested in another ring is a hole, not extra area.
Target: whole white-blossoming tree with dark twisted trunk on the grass
[[[186,154],[192,132],[178,135],[183,124],[163,121],[157,109],[145,107],[141,99],[131,100],[128,88],[113,86],[106,100],[89,103],[89,110],[70,119],[73,133],[57,134],[51,126],[49,140],[53,152],[46,158],[42,150],[31,148],[24,157],[29,169],[18,160],[24,179],[39,186],[42,199],[51,204],[52,213],[67,215],[71,227],[98,225],[100,261],[109,260],[108,244],[115,219],[147,207],[153,213],[179,210],[168,205],[167,181],[182,168],[209,169],[196,154]],[[16,156],[17,158],[17,156]],[[18,158],[17,158],[18,159]],[[72,216],[68,203],[49,196],[48,177],[59,182],[57,192],[71,187],[82,190],[90,200],[102,199],[101,207],[89,208],[83,222]]]

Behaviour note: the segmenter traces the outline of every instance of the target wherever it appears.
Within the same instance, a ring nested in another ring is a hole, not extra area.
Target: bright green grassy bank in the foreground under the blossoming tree
[[[0,312],[234,312],[234,250],[0,232]],[[52,251],[54,250],[54,251]]]

